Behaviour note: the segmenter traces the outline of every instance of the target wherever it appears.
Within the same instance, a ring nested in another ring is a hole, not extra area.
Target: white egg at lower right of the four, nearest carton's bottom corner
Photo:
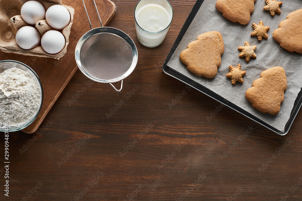
[[[41,45],[45,52],[49,54],[57,54],[64,49],[66,40],[61,32],[50,30],[42,36]]]

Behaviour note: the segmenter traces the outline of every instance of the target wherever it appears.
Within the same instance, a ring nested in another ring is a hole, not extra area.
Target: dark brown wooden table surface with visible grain
[[[194,0],[170,1],[153,49],[136,38],[137,0],[113,2],[108,26],[134,40],[137,67],[120,93],[76,71],[36,133],[9,134],[9,197],[1,135],[0,200],[301,200],[301,112],[279,136],[163,73]]]

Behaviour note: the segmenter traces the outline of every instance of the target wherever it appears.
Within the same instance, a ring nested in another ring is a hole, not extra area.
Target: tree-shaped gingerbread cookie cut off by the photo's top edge
[[[232,22],[248,24],[251,14],[254,12],[256,0],[218,0],[216,8],[222,12],[222,16]]]

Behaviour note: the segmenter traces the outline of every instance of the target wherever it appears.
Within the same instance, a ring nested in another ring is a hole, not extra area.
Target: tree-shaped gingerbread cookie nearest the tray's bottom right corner
[[[284,101],[284,91],[287,89],[285,71],[282,67],[263,71],[252,88],[246,91],[246,99],[253,107],[263,113],[277,115]]]

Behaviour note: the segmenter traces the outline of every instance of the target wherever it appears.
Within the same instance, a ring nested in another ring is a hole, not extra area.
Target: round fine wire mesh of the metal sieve
[[[121,37],[111,33],[98,33],[83,44],[80,61],[92,77],[112,80],[124,75],[132,64],[132,50]]]

